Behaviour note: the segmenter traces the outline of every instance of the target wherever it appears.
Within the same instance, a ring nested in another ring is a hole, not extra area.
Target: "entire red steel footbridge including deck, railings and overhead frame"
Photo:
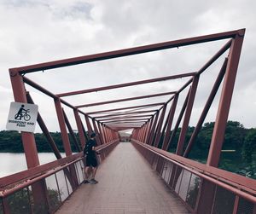
[[[32,93],[26,86],[53,100],[66,157],[61,156],[42,115],[38,113],[38,125],[56,160],[40,165],[34,134],[21,131],[28,169],[0,178],[0,213],[255,214],[255,180],[218,169],[244,34],[245,29],[241,29],[9,69],[16,102],[34,103]],[[195,72],[57,95],[25,76],[32,72],[222,40],[224,45]],[[206,97],[195,130],[186,139],[201,74],[221,59],[223,61],[218,67],[218,75]],[[187,81],[175,90],[162,93],[87,104],[81,101],[76,106],[63,98],[102,90],[129,90],[130,86],[177,78]],[[211,144],[207,162],[202,164],[188,157],[218,90],[221,90],[221,95]],[[145,99],[160,96],[167,97],[166,101],[150,102],[150,99]],[[177,102],[182,96],[184,99],[178,110]],[[119,108],[106,107],[111,103],[137,100],[143,100],[144,103],[124,104]],[[84,107],[95,106],[103,108],[91,112],[83,110]],[[75,128],[67,117],[67,108],[73,111]],[[179,127],[176,145],[174,138]],[[73,129],[78,130],[78,135]],[[123,139],[121,130],[132,130],[131,136]],[[81,152],[88,135],[93,131],[98,134],[97,150],[101,152],[99,161],[102,163],[96,174],[100,182],[96,185],[83,184],[84,159]],[[71,142],[78,153],[72,152]],[[173,144],[176,146],[170,153]]]

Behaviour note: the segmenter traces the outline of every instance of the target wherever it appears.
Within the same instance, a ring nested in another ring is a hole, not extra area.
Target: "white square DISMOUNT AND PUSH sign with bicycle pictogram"
[[[34,132],[37,118],[38,105],[11,102],[6,129]]]

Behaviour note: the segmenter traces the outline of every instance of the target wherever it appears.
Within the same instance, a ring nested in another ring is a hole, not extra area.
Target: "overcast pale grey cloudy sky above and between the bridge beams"
[[[91,55],[150,43],[191,38],[246,28],[230,120],[245,127],[256,127],[256,3],[253,0],[169,1],[169,0],[0,0],[0,130],[4,130],[9,104],[14,101],[9,68],[80,55]],[[226,41],[167,49],[110,61],[26,74],[27,78],[55,94],[181,72],[196,72]],[[224,56],[226,56],[225,53]],[[224,56],[201,78],[195,98],[191,125],[195,125]],[[214,76],[215,75],[215,76]],[[74,105],[121,99],[135,95],[177,90],[186,78],[107,90],[64,99]],[[176,88],[175,88],[176,87]],[[37,90],[26,88],[38,104],[49,130],[58,130],[54,103]],[[219,95],[219,93],[218,93]],[[168,97],[148,103],[166,101]],[[178,104],[181,107],[182,103]],[[146,101],[147,102],[147,101]],[[131,105],[140,104],[140,101]],[[142,102],[145,104],[145,101]],[[207,121],[216,116],[218,96]],[[129,103],[125,103],[129,106]],[[116,103],[104,108],[124,107]],[[84,112],[103,109],[84,108]],[[72,115],[70,109],[65,109]],[[73,119],[71,119],[71,123]],[[38,128],[37,128],[38,130]],[[40,130],[38,130],[40,131]]]

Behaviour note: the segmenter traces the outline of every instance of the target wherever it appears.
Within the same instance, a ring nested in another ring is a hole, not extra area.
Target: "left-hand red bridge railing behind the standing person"
[[[99,162],[102,162],[117,144],[117,141],[113,141],[97,147],[96,150],[101,153]],[[84,164],[83,153],[76,153],[0,178],[0,214],[54,213],[78,188],[73,186],[73,177],[69,173],[72,168],[75,169],[78,185],[84,182]],[[32,188],[37,182],[44,182],[47,189],[46,205],[34,203]]]

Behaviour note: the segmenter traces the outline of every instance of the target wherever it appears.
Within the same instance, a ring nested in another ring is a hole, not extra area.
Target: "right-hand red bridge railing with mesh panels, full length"
[[[256,213],[256,181],[131,141],[193,213]]]

